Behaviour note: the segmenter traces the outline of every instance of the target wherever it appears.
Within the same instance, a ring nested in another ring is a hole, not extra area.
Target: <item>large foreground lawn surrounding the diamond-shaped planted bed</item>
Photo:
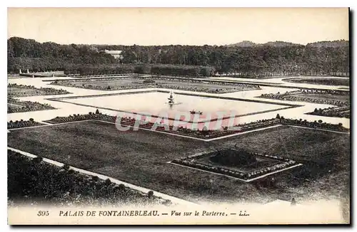
[[[167,162],[237,144],[303,163],[249,184]],[[106,122],[33,127],[8,133],[8,146],[189,201],[334,198],[349,181],[349,135],[281,126],[202,142],[151,131],[119,132]]]

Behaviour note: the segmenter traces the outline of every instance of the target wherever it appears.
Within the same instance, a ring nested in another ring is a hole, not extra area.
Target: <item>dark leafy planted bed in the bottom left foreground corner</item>
[[[171,201],[114,184],[110,179],[81,174],[68,165],[58,167],[8,149],[8,200],[51,205],[158,205]]]

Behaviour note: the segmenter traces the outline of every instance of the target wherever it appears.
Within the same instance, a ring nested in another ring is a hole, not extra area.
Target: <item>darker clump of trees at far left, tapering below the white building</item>
[[[8,73],[19,69],[33,72],[66,70],[73,65],[114,64],[118,61],[111,55],[98,51],[93,46],[39,43],[33,39],[11,37],[7,40]]]

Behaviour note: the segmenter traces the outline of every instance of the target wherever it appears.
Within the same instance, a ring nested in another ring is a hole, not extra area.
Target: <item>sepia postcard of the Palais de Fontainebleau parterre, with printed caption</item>
[[[350,223],[348,8],[9,8],[9,225]]]

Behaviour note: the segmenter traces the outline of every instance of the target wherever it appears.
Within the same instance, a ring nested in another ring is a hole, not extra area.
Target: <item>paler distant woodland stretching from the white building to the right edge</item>
[[[260,46],[103,46],[123,51],[123,63],[208,65],[236,75],[343,75],[349,73],[349,42],[306,46],[271,42]]]

